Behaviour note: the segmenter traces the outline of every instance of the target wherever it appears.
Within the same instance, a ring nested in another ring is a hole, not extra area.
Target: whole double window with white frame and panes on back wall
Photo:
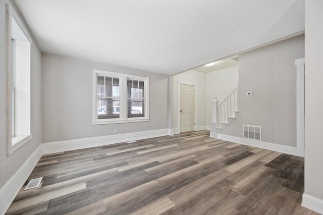
[[[149,78],[93,70],[93,125],[149,121]]]

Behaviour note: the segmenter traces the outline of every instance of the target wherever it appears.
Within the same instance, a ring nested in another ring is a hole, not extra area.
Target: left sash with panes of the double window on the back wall
[[[97,119],[120,117],[119,78],[97,76]]]

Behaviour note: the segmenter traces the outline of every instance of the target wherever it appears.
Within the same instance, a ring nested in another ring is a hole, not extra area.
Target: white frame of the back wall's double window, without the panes
[[[103,70],[93,70],[93,93],[92,93],[92,125],[147,122],[149,121],[149,78],[124,73],[109,72]],[[120,96],[120,113],[119,118],[97,119],[97,76],[109,76],[119,78],[119,96]],[[127,98],[127,80],[134,79],[144,81],[144,117],[127,117],[128,98]]]

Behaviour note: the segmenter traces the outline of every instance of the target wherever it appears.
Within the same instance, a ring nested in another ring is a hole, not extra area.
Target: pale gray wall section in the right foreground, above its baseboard
[[[323,211],[323,1],[305,1],[305,192]]]

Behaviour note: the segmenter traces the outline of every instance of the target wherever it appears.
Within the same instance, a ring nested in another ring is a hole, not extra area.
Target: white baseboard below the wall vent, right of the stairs
[[[278,151],[285,154],[291,154],[297,156],[297,148],[292,146],[280,145],[276,143],[268,143],[256,140],[245,139],[242,137],[234,137],[226,134],[217,134],[217,138],[221,140],[226,140],[230,142],[240,143],[243,145],[254,146],[258,148],[268,149],[272,151]]]

